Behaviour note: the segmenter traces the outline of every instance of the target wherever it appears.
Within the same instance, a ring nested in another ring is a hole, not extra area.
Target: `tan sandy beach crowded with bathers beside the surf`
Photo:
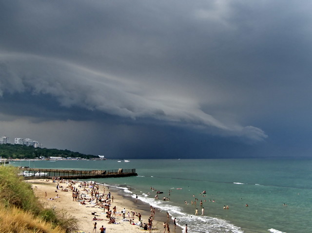
[[[57,190],[57,182],[53,182],[52,179],[34,179],[34,180],[28,180],[27,182],[31,183],[33,186],[33,189],[35,191],[36,196],[39,198],[39,200],[43,203],[44,206],[52,207],[57,210],[63,210],[67,214],[74,216],[78,219],[78,230],[85,233],[92,233],[94,229],[94,223],[97,222],[97,231],[100,232],[99,228],[103,225],[104,228],[106,228],[106,233],[140,233],[140,232],[146,232],[141,230],[137,225],[130,224],[129,218],[128,218],[128,212],[135,212],[140,213],[142,215],[142,223],[148,224],[148,218],[151,215],[150,212],[150,206],[147,204],[143,204],[141,201],[136,201],[135,198],[128,199],[125,197],[122,197],[121,195],[117,194],[116,190],[109,189],[107,186],[99,186],[99,193],[100,195],[105,192],[105,194],[108,194],[108,192],[111,193],[111,197],[114,197],[113,202],[111,202],[110,209],[113,210],[113,207],[116,206],[117,213],[116,213],[116,222],[117,224],[108,224],[109,219],[106,217],[106,210],[104,212],[103,209],[100,209],[98,205],[95,205],[94,203],[88,203],[86,202],[85,205],[81,205],[79,201],[73,201],[72,192],[69,188],[69,182],[64,181],[64,183],[59,183],[59,190]],[[90,194],[87,194],[87,191],[83,191],[83,188],[78,187],[79,182],[73,185],[75,188],[78,188],[79,194],[86,195],[87,197]],[[61,191],[61,189],[68,189],[68,192]],[[86,189],[89,189],[89,187],[86,187]],[[57,192],[56,192],[57,191]],[[46,192],[46,195],[45,195]],[[58,195],[58,197],[57,197]],[[53,198],[52,200],[50,198]],[[126,210],[126,217],[125,219],[127,221],[123,220],[122,216],[122,210],[125,208]],[[94,215],[92,213],[96,212]],[[97,217],[99,219],[103,220],[96,220],[94,221],[93,218]],[[170,232],[172,233],[182,233],[182,229],[178,226],[176,229],[174,229],[173,220],[170,218],[167,218],[166,213],[162,212],[160,213],[157,209],[155,212],[155,216],[153,217],[153,227],[152,232],[153,233],[163,233],[163,223],[164,221],[169,223],[170,226]],[[134,217],[134,223],[138,223],[138,217],[135,215]],[[167,233],[167,230],[166,230]]]

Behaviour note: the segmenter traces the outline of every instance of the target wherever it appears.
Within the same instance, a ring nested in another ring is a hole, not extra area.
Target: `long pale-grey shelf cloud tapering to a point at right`
[[[185,122],[189,125],[215,127],[230,135],[245,136],[254,140],[266,137],[261,129],[253,126],[225,125],[204,113],[198,104],[160,91],[149,96],[139,89],[141,84],[122,80],[105,73],[88,70],[64,61],[24,54],[2,55],[3,91],[48,94],[58,99],[62,107],[80,107],[99,110],[120,117],[155,118],[167,122]],[[0,57],[0,59],[2,58]],[[144,90],[150,87],[145,87]]]

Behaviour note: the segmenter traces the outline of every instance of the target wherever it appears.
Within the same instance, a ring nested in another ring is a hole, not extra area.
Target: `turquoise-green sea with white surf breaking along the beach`
[[[24,161],[12,164],[81,170],[136,168],[137,177],[93,180],[114,185],[123,195],[135,197],[137,194],[149,205],[164,213],[168,211],[177,218],[178,225],[188,224],[189,233],[312,232],[312,160]],[[163,192],[158,195],[159,199],[154,198],[156,192],[150,187]],[[204,190],[206,197],[200,194]],[[170,200],[163,201],[162,197]],[[196,206],[191,204],[195,198],[198,198]],[[204,216],[201,216],[200,200]],[[224,205],[229,205],[229,210],[224,210]],[[196,208],[199,215],[195,215]]]

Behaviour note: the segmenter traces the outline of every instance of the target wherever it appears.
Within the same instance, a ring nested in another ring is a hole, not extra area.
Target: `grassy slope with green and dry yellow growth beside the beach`
[[[69,233],[77,219],[42,206],[13,166],[0,166],[1,233]]]

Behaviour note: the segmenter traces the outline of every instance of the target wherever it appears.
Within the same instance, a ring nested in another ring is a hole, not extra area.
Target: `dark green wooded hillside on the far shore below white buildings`
[[[3,158],[12,159],[35,159],[40,156],[44,157],[73,157],[73,158],[84,158],[92,159],[98,158],[94,155],[85,155],[70,150],[58,150],[58,149],[47,149],[47,148],[35,148],[33,146],[26,146],[20,144],[0,144],[0,156]]]

